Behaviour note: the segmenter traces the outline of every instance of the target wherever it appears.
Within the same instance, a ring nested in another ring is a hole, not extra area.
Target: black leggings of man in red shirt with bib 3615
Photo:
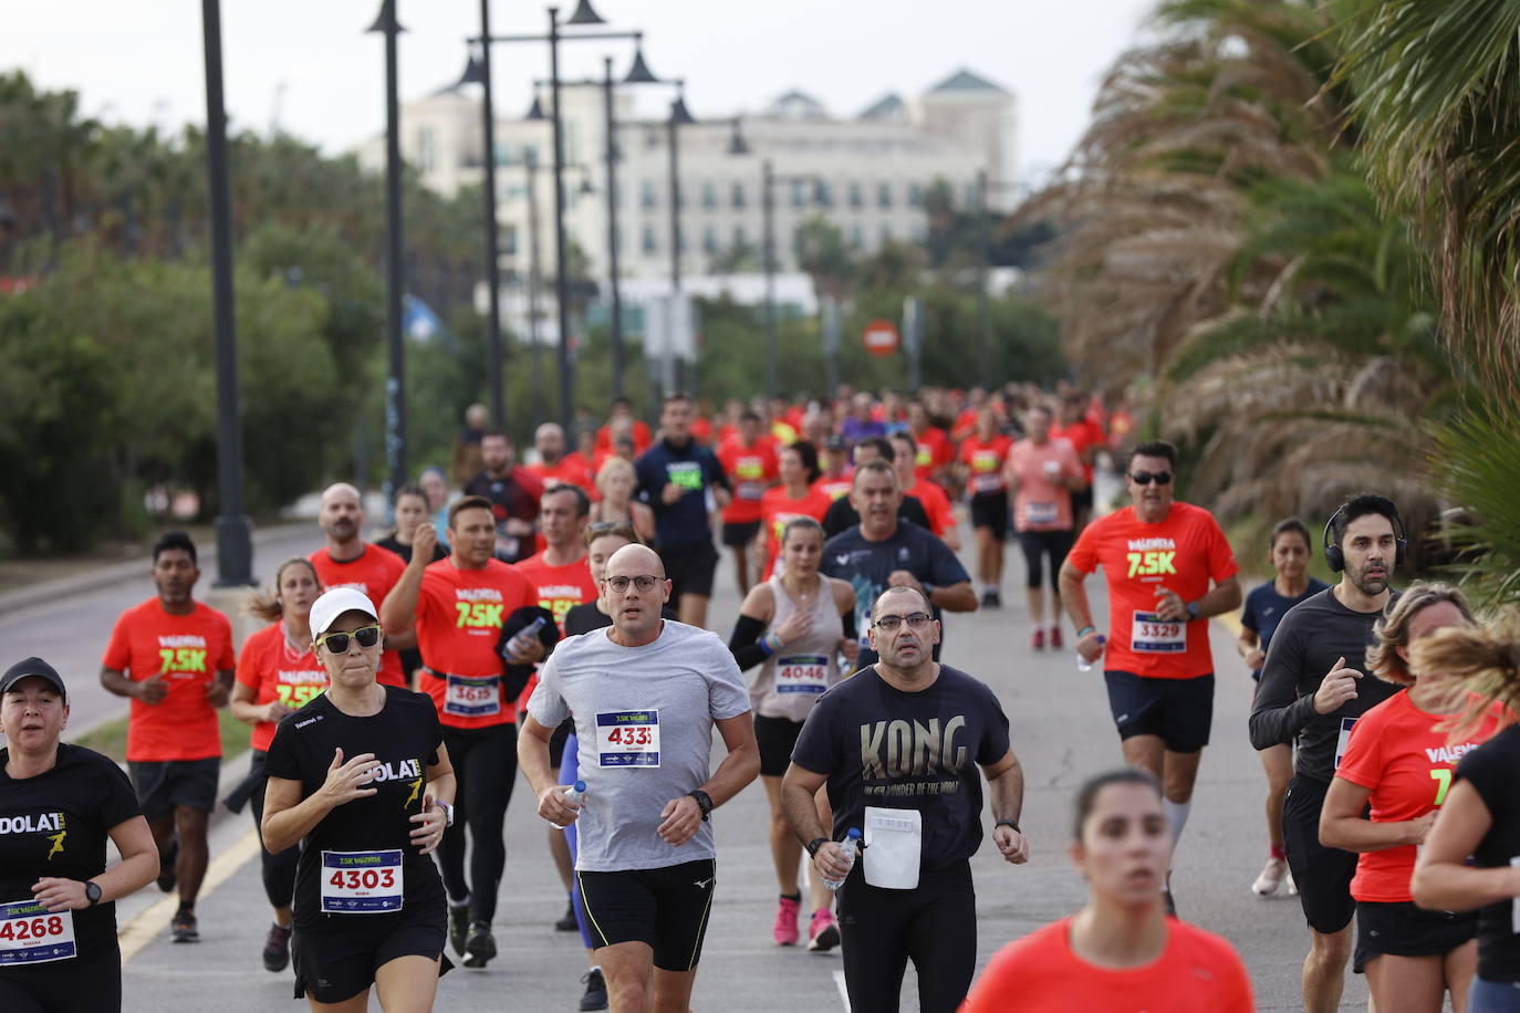
[[[491,923],[496,890],[506,869],[506,803],[517,781],[517,726],[444,729],[454,767],[454,825],[438,849],[444,885],[453,899],[470,896],[470,920]],[[465,881],[465,828],[470,829],[470,879]]]

